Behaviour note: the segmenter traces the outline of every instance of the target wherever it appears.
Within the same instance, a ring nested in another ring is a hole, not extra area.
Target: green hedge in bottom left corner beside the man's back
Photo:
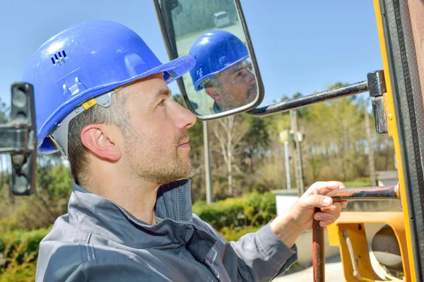
[[[0,282],[35,280],[40,241],[49,231],[13,231],[0,237]]]

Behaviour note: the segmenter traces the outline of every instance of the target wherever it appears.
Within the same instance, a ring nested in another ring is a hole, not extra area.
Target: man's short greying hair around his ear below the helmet
[[[129,111],[126,106],[128,93],[125,88],[112,94],[112,102],[107,108],[95,105],[83,111],[69,122],[68,156],[71,173],[76,183],[85,183],[88,169],[88,149],[81,142],[81,130],[89,124],[114,124],[126,135],[131,129]]]

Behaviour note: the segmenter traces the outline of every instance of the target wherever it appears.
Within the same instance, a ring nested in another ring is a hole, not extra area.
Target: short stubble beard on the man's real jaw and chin
[[[143,137],[132,131],[126,137],[125,145],[131,171],[139,178],[157,185],[187,177],[192,171],[192,163],[189,154],[185,150],[178,149],[180,142],[187,137],[187,130],[183,130],[170,147],[164,147],[165,145],[159,144],[158,140]],[[149,145],[151,149],[141,150],[141,152],[136,149],[142,145]],[[151,145],[155,146],[151,147]],[[139,156],[135,156],[134,152]]]

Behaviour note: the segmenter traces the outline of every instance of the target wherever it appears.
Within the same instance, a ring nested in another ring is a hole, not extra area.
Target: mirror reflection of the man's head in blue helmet
[[[206,32],[194,42],[189,55],[196,59],[190,71],[194,90],[205,90],[220,113],[253,102],[257,82],[245,44],[225,30]]]

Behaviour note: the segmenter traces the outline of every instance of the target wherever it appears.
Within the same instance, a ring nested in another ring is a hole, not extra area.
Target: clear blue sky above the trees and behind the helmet
[[[205,0],[206,1],[206,0]],[[265,85],[262,105],[366,80],[382,69],[370,0],[242,1]],[[135,30],[160,61],[169,61],[150,0],[1,0],[0,99],[10,104],[30,56],[57,32],[86,20],[114,20]],[[179,92],[176,83],[172,92]]]

